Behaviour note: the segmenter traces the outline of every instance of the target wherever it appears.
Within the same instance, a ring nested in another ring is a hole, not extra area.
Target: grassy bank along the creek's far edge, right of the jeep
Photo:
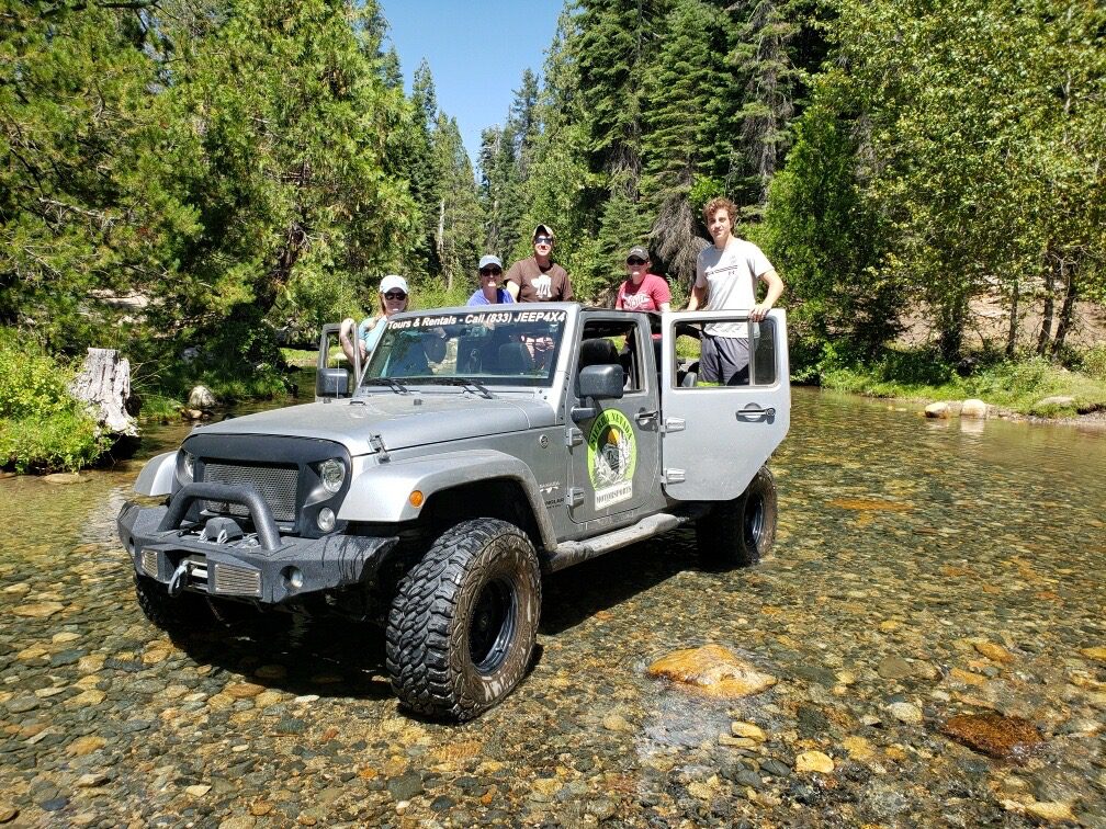
[[[869,397],[979,398],[1012,412],[1047,418],[1106,410],[1106,347],[1085,351],[1072,363],[1064,367],[1040,357],[993,357],[957,368],[926,349],[888,349],[869,360],[851,360],[831,351],[814,374],[824,388]],[[1072,401],[1043,402],[1056,397]]]

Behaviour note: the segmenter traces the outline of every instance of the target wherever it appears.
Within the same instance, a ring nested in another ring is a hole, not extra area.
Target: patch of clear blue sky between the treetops
[[[541,74],[563,0],[380,0],[407,92],[426,57],[438,107],[457,118],[476,164],[480,130],[507,119],[528,66]]]

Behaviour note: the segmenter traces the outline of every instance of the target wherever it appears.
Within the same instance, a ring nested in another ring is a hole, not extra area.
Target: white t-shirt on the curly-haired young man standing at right
[[[748,311],[757,304],[757,280],[772,269],[764,251],[752,242],[730,237],[723,250],[710,244],[695,265],[696,287],[708,288],[705,311]],[[744,323],[713,323],[703,328],[716,337],[743,337]]]

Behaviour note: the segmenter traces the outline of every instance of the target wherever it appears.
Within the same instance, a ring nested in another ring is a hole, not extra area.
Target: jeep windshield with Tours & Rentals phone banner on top
[[[405,314],[388,323],[362,386],[449,384],[549,386],[566,311]]]

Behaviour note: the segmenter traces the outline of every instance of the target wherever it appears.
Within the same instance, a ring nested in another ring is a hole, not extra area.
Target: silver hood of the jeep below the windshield
[[[541,400],[486,399],[472,395],[375,393],[271,409],[200,427],[204,434],[274,434],[317,438],[345,445],[351,455],[369,454],[379,434],[388,451],[553,426],[552,407]]]

